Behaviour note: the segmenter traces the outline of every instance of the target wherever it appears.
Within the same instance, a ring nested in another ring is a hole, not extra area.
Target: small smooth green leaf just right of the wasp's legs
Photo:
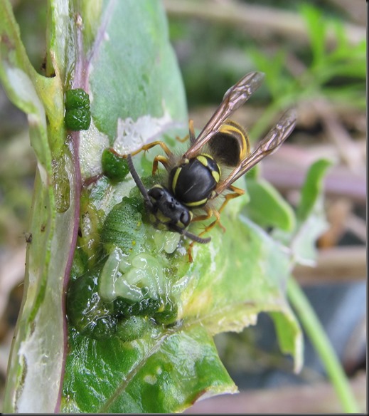
[[[245,214],[252,221],[262,227],[278,227],[284,231],[294,229],[296,219],[292,207],[269,182],[247,177],[247,193],[250,202],[245,206]]]

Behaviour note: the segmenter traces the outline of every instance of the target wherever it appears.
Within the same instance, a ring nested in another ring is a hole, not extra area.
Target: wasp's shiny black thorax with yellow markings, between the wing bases
[[[220,180],[220,167],[213,157],[198,155],[173,168],[169,183],[176,198],[187,207],[203,207]]]

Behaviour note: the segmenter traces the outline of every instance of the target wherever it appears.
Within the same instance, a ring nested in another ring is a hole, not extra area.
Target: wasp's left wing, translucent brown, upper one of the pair
[[[262,84],[264,73],[250,72],[241,78],[235,85],[225,93],[222,103],[220,103],[215,113],[200,132],[196,140],[191,143],[191,147],[183,155],[183,159],[191,159],[198,154],[201,147],[218,132],[230,115],[240,108]]]

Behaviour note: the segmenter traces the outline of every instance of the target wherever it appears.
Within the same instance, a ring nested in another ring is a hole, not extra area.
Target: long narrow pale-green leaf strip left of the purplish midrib
[[[65,224],[73,219],[73,207],[60,209],[53,188],[53,177],[63,176],[58,167],[64,172],[65,168],[72,170],[68,152],[61,152],[65,140],[63,90],[58,76],[44,78],[32,68],[6,0],[0,4],[0,37],[1,82],[14,105],[28,115],[31,145],[38,158],[25,294],[9,360],[4,410],[53,412],[63,359],[61,300],[70,248],[70,228]],[[58,163],[53,165],[56,154]],[[67,180],[73,186],[73,177]],[[55,252],[58,256],[53,256]]]

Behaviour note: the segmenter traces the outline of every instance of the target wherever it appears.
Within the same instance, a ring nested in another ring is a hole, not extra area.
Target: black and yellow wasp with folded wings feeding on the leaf
[[[260,87],[263,79],[264,73],[261,72],[247,73],[242,77],[225,93],[222,103],[197,137],[193,120],[189,120],[190,145],[181,157],[174,155],[159,140],[127,155],[129,171],[144,197],[154,227],[178,232],[201,244],[208,243],[210,237],[204,238],[203,234],[209,232],[215,224],[220,224],[220,212],[230,199],[244,194],[233,182],[277,150],[294,130],[296,114],[291,109],[284,113],[255,150],[250,152],[245,130],[228,120]],[[156,145],[161,146],[165,156],[154,157],[153,175],[160,162],[168,172],[167,180],[166,183],[154,184],[151,189],[146,189],[134,168],[132,156]],[[223,203],[217,208],[214,202],[221,195],[224,197]],[[215,217],[215,220],[199,235],[188,231],[191,222],[210,217]],[[220,224],[220,227],[223,226]],[[192,244],[193,242],[191,246]]]

